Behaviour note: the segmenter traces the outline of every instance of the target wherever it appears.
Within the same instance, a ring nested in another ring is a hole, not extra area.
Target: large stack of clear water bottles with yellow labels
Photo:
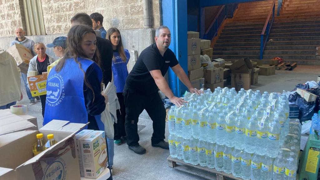
[[[301,126],[285,92],[218,87],[184,99],[168,112],[171,157],[246,180],[296,178]]]

